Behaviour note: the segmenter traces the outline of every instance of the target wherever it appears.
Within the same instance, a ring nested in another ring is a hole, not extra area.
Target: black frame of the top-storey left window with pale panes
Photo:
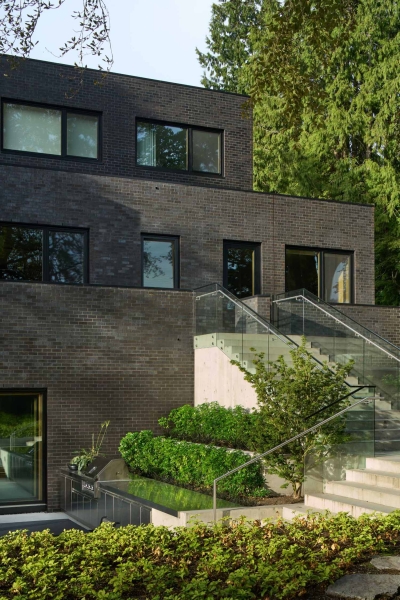
[[[58,110],[61,112],[61,154],[47,154],[45,152],[31,152],[26,150],[12,150],[11,148],[4,148],[4,104],[20,104],[23,106],[33,106],[35,108],[47,108],[49,110]],[[90,158],[87,156],[73,156],[67,154],[67,115],[77,114],[83,116],[92,116],[98,118],[98,130],[97,130],[97,158]],[[53,158],[58,160],[67,161],[83,161],[89,163],[99,163],[102,161],[102,113],[94,110],[85,110],[80,108],[73,108],[68,106],[58,106],[56,104],[44,104],[42,102],[29,102],[27,100],[13,100],[11,98],[1,98],[1,151],[5,154],[16,154],[20,156],[34,156],[42,158]]]

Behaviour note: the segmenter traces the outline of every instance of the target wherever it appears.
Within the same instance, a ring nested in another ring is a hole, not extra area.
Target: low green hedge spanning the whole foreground
[[[0,598],[9,600],[283,600],[323,587],[357,561],[393,552],[400,512],[294,523],[164,527],[103,524],[93,533],[0,538]]]

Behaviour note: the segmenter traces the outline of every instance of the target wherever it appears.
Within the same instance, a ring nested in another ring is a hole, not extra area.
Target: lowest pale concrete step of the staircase
[[[329,510],[332,513],[347,512],[353,517],[360,517],[364,513],[381,513],[387,515],[396,508],[378,504],[377,502],[365,502],[364,500],[355,500],[345,496],[335,494],[306,494],[304,498],[304,509],[314,511]]]

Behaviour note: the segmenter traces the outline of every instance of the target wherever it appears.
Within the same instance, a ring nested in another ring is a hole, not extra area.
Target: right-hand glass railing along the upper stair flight
[[[352,375],[360,385],[373,385],[381,396],[381,409],[400,409],[400,349],[363,327],[306,290],[274,300],[274,322],[292,341],[305,336],[329,361],[354,361]],[[386,401],[386,405],[384,404]],[[396,436],[395,436],[396,437]],[[398,449],[400,450],[400,430]],[[382,449],[393,444],[382,444]]]

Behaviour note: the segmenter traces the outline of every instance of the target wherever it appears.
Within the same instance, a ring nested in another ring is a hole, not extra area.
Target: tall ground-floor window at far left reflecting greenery
[[[44,501],[44,394],[0,393],[0,505]]]

